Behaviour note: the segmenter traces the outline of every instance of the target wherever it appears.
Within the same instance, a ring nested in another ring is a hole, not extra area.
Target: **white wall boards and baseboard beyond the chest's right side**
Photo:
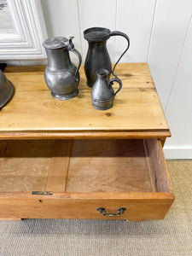
[[[147,61],[172,131],[165,147],[171,159],[192,159],[191,15],[191,0],[157,0],[148,49]]]

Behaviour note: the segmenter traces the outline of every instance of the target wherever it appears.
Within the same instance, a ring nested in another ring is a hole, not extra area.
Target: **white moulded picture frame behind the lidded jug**
[[[40,0],[0,0],[0,61],[45,59]]]

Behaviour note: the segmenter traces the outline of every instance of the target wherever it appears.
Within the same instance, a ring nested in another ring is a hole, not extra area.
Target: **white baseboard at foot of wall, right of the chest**
[[[192,159],[192,147],[171,147],[165,146],[163,148],[166,159]]]

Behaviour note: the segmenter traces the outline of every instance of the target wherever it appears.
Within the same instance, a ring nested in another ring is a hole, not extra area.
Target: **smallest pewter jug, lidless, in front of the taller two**
[[[114,96],[121,90],[122,82],[117,77],[108,81],[109,71],[101,68],[96,70],[96,83],[91,90],[91,99],[93,107],[99,110],[107,110],[113,107]],[[114,92],[113,82],[119,83],[119,89]]]

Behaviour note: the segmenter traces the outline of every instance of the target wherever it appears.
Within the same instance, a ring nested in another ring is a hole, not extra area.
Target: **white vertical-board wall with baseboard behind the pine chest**
[[[83,59],[87,51],[83,31],[90,26],[119,30],[130,37],[131,47],[122,61],[148,62],[172,131],[172,138],[166,141],[166,157],[192,159],[192,0],[41,2],[49,37],[74,36]],[[108,40],[113,62],[125,47],[124,38]]]

